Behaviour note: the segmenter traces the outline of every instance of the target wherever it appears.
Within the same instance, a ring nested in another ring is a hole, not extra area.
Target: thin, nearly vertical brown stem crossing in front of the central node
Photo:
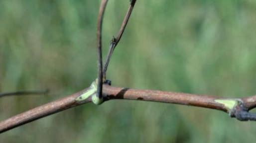
[[[102,98],[102,84],[103,84],[103,73],[102,73],[102,23],[104,12],[108,0],[102,0],[101,6],[98,15],[98,24],[97,24],[97,49],[98,49],[98,90],[97,96]]]

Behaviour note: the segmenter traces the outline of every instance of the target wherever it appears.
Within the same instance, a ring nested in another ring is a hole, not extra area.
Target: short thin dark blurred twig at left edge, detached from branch
[[[0,97],[11,96],[11,95],[46,95],[49,90],[45,91],[18,91],[12,93],[0,93]]]

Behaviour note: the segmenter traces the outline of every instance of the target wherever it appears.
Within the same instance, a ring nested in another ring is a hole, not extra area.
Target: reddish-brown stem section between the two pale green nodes
[[[104,86],[103,93],[104,95],[107,95],[107,99],[131,99],[175,103],[227,111],[227,109],[222,104],[214,101],[215,99],[220,98],[217,96],[193,95],[154,90],[135,90],[128,88],[111,87],[107,85]]]

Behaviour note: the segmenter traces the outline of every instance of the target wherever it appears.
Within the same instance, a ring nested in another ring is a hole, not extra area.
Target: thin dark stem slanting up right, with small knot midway
[[[132,12],[132,9],[135,5],[135,2],[136,0],[131,0],[130,1],[130,5],[129,5],[129,8],[128,8],[128,11],[126,13],[126,16],[123,20],[123,23],[121,25],[121,28],[119,30],[119,33],[116,37],[113,37],[112,41],[111,41],[111,44],[110,44],[110,48],[109,48],[109,52],[108,52],[108,55],[107,55],[107,58],[106,58],[106,61],[105,61],[105,64],[104,64],[104,68],[103,68],[103,78],[106,79],[106,72],[108,70],[108,66],[109,66],[109,62],[110,62],[110,58],[114,52],[114,49],[116,48],[116,46],[118,45],[119,41],[121,40],[122,36],[123,36],[123,33],[126,29],[126,26],[127,26],[127,23],[128,23],[128,20],[130,18],[130,14]]]

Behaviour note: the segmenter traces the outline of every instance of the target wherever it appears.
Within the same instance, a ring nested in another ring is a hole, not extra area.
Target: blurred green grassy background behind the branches
[[[0,0],[0,120],[96,78],[100,0]],[[109,0],[104,55],[128,0]],[[256,0],[137,0],[108,70],[114,86],[243,97],[256,94]],[[241,143],[256,122],[217,110],[113,100],[81,105],[0,135],[1,143]]]

